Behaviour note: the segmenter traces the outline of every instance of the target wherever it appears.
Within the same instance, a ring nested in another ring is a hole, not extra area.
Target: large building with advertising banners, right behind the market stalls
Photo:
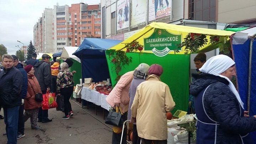
[[[124,40],[151,22],[179,19],[256,23],[255,9],[256,0],[101,0],[102,38]]]

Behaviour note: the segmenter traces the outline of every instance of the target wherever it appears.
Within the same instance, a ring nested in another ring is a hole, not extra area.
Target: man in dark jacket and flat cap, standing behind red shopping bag
[[[48,54],[43,54],[42,60],[34,66],[34,75],[39,82],[42,94],[46,94],[47,91],[50,91],[52,81],[51,68],[49,64],[50,58],[51,57]],[[47,123],[51,121],[52,119],[48,119],[48,110],[42,110],[42,107],[40,107],[38,112],[38,122]]]

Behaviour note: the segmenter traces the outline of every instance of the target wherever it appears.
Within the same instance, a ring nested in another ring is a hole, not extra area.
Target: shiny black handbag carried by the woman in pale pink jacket
[[[116,106],[114,106],[113,110],[111,110],[108,113],[105,123],[110,124],[112,126],[122,127],[123,122],[124,121],[123,121],[122,114],[121,114],[119,108],[118,108],[118,112],[116,112]]]

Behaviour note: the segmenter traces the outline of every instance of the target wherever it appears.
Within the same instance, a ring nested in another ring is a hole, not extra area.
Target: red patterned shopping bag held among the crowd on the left
[[[48,110],[55,107],[58,107],[57,102],[55,101],[55,93],[47,91],[46,94],[43,94],[42,110]]]

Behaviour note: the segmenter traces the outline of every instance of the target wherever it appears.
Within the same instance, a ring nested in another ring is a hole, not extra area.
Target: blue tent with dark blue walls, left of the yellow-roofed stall
[[[105,51],[122,41],[100,38],[85,38],[73,55],[80,58],[82,81],[93,78],[94,82],[110,78]]]

